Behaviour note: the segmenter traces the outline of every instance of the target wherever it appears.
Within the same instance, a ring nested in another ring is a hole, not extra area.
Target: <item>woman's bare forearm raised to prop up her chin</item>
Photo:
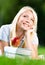
[[[35,39],[36,40],[36,39]],[[32,58],[38,58],[38,46],[32,43],[32,32],[25,32],[25,47],[32,51]]]

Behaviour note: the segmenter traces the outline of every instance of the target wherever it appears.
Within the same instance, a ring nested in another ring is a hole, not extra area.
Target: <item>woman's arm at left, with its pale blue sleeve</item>
[[[4,52],[4,47],[9,45],[10,28],[9,25],[2,25],[0,28],[0,50]]]

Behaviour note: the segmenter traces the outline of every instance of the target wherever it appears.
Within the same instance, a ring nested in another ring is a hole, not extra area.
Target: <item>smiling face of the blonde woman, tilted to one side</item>
[[[32,11],[25,11],[18,20],[18,25],[23,30],[32,30],[34,27],[34,15]]]

